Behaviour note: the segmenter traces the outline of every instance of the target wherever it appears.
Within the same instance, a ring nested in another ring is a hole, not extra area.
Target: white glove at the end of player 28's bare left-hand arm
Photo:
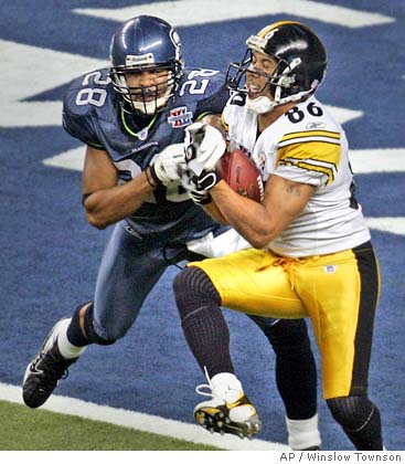
[[[180,179],[185,166],[183,144],[172,144],[153,158],[150,173],[156,183],[168,186]]]

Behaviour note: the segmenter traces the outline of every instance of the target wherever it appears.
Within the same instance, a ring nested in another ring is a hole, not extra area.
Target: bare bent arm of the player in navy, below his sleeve
[[[107,151],[87,146],[83,171],[84,208],[87,221],[97,229],[128,217],[152,191],[142,172],[117,186],[117,170]]]

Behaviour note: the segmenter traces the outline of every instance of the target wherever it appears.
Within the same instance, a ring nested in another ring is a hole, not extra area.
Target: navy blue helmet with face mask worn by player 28
[[[183,74],[181,41],[175,30],[162,19],[140,15],[125,22],[113,35],[110,76],[122,95],[122,107],[152,116],[164,108]],[[129,87],[127,73],[168,71],[164,84]],[[153,97],[154,96],[154,97]]]

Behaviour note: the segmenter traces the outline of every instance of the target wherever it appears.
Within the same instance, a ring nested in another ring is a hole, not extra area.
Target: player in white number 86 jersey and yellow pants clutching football
[[[253,247],[191,263],[174,291],[185,338],[211,388],[212,399],[194,410],[202,425],[246,434],[257,422],[226,337],[215,334],[220,306],[309,317],[333,418],[358,450],[383,450],[380,412],[367,397],[379,266],[354,198],[344,131],[313,96],[326,67],[322,42],[301,23],[277,22],[247,40],[244,60],[228,70],[235,92],[223,125],[230,149],[244,150],[262,172],[262,203],[237,194],[210,169],[199,146],[211,129],[191,126],[186,144],[200,161],[189,164],[189,178],[211,199],[205,208]]]

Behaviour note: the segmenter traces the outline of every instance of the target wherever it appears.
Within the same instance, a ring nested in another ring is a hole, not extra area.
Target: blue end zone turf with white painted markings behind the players
[[[108,60],[118,22],[151,13],[174,25],[189,64],[226,68],[262,27],[300,20],[329,50],[319,97],[344,124],[359,199],[383,278],[370,376],[388,450],[404,450],[405,424],[405,3],[403,0],[14,0],[0,4],[0,382],[19,386],[43,335],[92,298],[109,230],[81,207],[83,148],[61,127],[63,89]],[[193,422],[203,376],[177,316],[169,270],[137,325],[113,347],[92,347],[57,392]],[[337,295],[339,297],[339,295]],[[274,356],[244,316],[226,312],[239,377],[262,412],[263,440],[285,442]],[[299,386],[297,386],[299,388]],[[350,444],[322,400],[324,449]],[[205,433],[202,431],[202,433]]]

